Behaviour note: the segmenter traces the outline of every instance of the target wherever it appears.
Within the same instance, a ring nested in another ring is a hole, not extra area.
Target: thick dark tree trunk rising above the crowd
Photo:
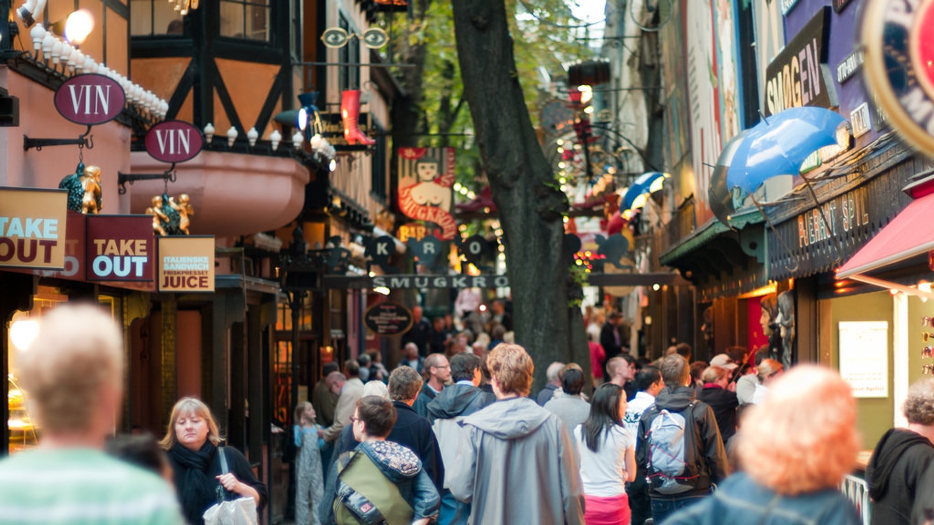
[[[580,311],[569,307],[568,202],[531,126],[504,0],[452,3],[464,98],[500,213],[516,342],[535,362],[538,387],[550,362],[590,368]]]

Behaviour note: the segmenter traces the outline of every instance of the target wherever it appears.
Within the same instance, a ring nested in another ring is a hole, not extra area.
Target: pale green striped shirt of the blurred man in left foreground
[[[184,523],[163,478],[90,448],[30,450],[0,461],[0,524]]]

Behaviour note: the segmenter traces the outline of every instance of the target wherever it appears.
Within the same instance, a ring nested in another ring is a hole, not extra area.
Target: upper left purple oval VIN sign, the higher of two
[[[113,121],[125,104],[123,88],[104,75],[76,75],[55,90],[55,108],[76,124],[93,126]]]

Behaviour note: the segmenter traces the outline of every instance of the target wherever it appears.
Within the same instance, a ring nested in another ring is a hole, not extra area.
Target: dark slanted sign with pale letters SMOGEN
[[[829,7],[817,11],[766,68],[765,115],[788,107],[837,106],[828,61]]]

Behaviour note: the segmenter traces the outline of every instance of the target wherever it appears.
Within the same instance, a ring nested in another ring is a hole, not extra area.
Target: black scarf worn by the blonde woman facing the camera
[[[204,523],[202,515],[205,514],[205,510],[218,503],[218,480],[207,475],[207,469],[210,468],[217,450],[218,447],[209,440],[205,441],[205,445],[197,452],[192,452],[178,443],[169,450],[169,455],[179,469],[176,473],[178,499],[181,501],[182,512],[190,523]]]

